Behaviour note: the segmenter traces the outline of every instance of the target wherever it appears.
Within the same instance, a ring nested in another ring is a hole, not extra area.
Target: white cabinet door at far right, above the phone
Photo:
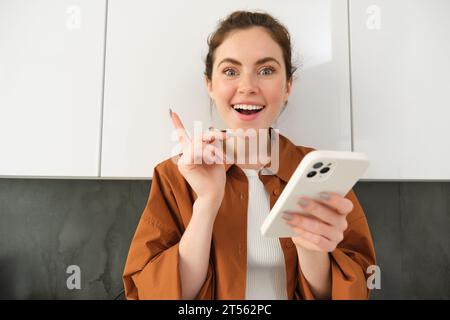
[[[450,179],[450,2],[350,1],[354,148],[368,179]]]

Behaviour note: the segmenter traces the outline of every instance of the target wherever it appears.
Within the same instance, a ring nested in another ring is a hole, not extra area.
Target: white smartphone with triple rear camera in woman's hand
[[[369,166],[368,157],[359,152],[315,150],[300,162],[277,202],[261,226],[265,237],[295,237],[282,218],[284,211],[299,212],[301,196],[319,199],[320,192],[347,195]]]

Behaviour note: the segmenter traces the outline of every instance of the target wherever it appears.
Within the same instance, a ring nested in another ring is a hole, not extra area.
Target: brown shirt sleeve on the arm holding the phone
[[[353,211],[347,216],[348,228],[344,240],[330,253],[331,299],[368,299],[366,271],[376,264],[375,250],[364,211],[351,190],[347,196]],[[299,291],[302,299],[315,299],[308,281],[299,271]]]

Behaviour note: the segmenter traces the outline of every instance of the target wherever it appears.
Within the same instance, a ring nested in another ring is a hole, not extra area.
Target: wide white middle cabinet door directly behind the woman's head
[[[169,107],[191,134],[210,113],[203,71],[207,38],[219,19],[260,9],[291,32],[297,73],[275,127],[298,144],[350,150],[347,2],[120,1],[108,4],[103,177],[142,178],[175,149]]]

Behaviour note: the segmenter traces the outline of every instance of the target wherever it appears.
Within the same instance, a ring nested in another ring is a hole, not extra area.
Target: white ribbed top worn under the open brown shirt
[[[248,180],[247,284],[245,299],[286,300],[286,270],[278,238],[261,235],[270,212],[270,198],[258,170],[242,169]]]

